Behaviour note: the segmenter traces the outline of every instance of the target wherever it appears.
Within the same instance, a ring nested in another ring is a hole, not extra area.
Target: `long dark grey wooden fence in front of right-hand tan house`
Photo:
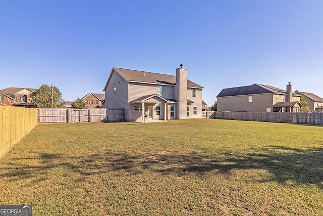
[[[214,118],[244,120],[244,121],[268,121],[280,123],[298,123],[323,125],[323,113],[301,112],[221,112],[217,111]]]

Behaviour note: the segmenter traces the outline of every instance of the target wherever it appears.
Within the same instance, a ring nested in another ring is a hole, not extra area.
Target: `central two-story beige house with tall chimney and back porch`
[[[103,107],[123,108],[127,121],[201,118],[203,87],[188,80],[182,66],[176,76],[112,68]]]

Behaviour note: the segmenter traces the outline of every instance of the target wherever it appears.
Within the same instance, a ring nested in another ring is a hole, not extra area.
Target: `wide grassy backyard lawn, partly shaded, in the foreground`
[[[33,215],[322,215],[323,127],[38,124],[0,159],[0,188]]]

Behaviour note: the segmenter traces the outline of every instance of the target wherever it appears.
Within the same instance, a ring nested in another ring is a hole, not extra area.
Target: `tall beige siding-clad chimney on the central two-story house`
[[[174,99],[177,101],[176,114],[178,119],[187,118],[187,69],[180,65],[176,69]]]

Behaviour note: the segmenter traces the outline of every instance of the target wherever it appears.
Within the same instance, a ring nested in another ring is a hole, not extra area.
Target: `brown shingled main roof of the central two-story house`
[[[114,67],[113,69],[117,71],[127,81],[147,82],[147,83],[155,83],[155,84],[171,84],[171,85],[175,85],[176,83],[176,76],[174,75],[152,73],[152,72],[139,71],[139,70],[130,70],[130,69],[117,68],[117,67]],[[201,85],[198,85],[189,79],[187,79],[187,87],[203,89]]]

